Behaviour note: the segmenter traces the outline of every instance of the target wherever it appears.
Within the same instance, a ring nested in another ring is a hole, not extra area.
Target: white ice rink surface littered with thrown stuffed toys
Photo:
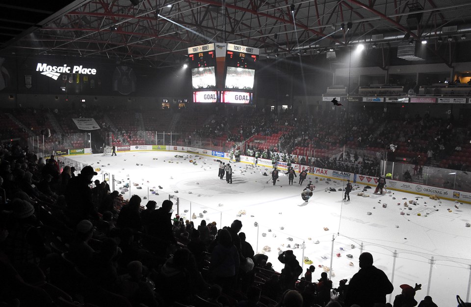
[[[394,291],[388,296],[391,303],[403,283],[421,283],[416,300],[420,302],[429,291],[440,307],[456,306],[457,294],[463,299],[469,294],[471,228],[465,226],[471,219],[468,204],[389,190],[385,195],[374,195],[374,188],[367,190],[369,197],[363,197],[357,195],[364,188],[358,184],[353,185],[351,201],[344,202],[344,192],[326,192],[332,187],[343,189],[342,180],[318,177],[316,182],[314,175],[308,175],[300,186],[297,174],[294,185],[288,186],[288,176],[280,171],[279,181],[273,186],[272,169],[240,162],[231,163],[233,184],[228,184],[217,177],[216,158],[183,152],[127,152],[115,157],[96,154],[67,159],[100,168],[94,180],[108,179],[111,188],[114,176],[114,190],[122,192],[129,183],[124,198],[134,194],[147,197],[141,205],[148,200],[160,205],[173,195],[176,212],[178,197],[180,217],[192,220],[195,226],[202,219],[215,221],[218,228],[240,220],[247,242],[256,253],[267,254],[278,272],[283,268],[277,260],[278,251],[293,249],[304,271],[309,265],[303,263],[303,257],[313,261],[313,279],[328,271],[337,287],[340,279],[350,279],[359,270],[358,256],[363,250],[371,252],[374,265],[392,279]],[[309,179],[315,190],[305,202],[301,192]],[[192,219],[193,214],[196,218]]]

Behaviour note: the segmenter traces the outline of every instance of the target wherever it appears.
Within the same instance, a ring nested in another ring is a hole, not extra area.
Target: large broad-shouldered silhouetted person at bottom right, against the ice
[[[348,284],[345,306],[353,304],[361,307],[373,307],[374,304],[386,304],[386,295],[392,293],[394,287],[386,274],[373,266],[373,256],[363,252],[359,257],[360,270]]]

